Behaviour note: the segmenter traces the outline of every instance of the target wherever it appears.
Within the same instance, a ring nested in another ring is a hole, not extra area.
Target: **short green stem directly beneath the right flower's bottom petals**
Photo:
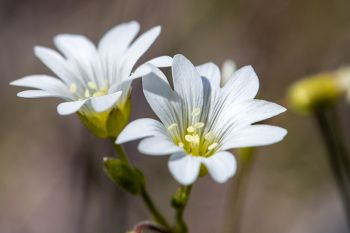
[[[188,227],[184,220],[184,212],[192,191],[192,185],[181,187],[173,197],[175,208],[175,233],[187,233]]]

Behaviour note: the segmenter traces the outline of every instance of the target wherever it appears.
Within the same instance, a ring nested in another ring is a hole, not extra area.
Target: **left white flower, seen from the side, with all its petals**
[[[131,74],[137,60],[148,50],[160,33],[160,26],[145,32],[137,39],[139,23],[131,21],[108,31],[96,47],[82,35],[60,34],[54,44],[63,54],[35,47],[35,55],[58,78],[30,75],[11,82],[11,85],[33,88],[17,95],[25,98],[59,97],[66,102],[57,106],[58,113],[68,115],[80,111],[104,112],[116,104],[123,105],[130,94],[132,79],[149,72],[141,65]],[[157,67],[171,65],[167,56],[148,61]]]

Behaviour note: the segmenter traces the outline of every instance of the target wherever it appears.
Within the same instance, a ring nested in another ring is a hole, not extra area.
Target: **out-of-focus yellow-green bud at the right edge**
[[[344,93],[337,77],[337,72],[329,72],[297,81],[289,89],[290,106],[297,112],[309,113],[334,105]]]

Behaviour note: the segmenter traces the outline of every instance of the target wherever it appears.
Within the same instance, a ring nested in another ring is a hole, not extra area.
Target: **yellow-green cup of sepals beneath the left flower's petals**
[[[131,113],[130,97],[124,104],[119,104],[104,112],[79,112],[84,125],[99,138],[116,138],[129,122]]]

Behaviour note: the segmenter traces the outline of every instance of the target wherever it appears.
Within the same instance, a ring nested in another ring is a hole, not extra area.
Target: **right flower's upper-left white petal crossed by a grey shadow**
[[[142,78],[143,93],[152,110],[159,119],[168,127],[177,121],[177,104],[179,97],[170,88],[164,74],[153,67],[152,73]]]

